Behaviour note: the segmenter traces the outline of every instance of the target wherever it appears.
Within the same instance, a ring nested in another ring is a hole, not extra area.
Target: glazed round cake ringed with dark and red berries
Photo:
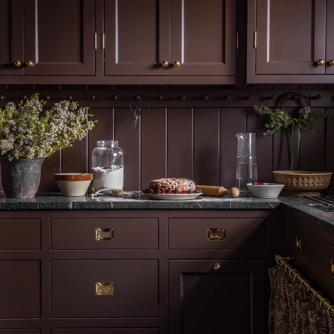
[[[199,190],[199,191],[198,191]],[[201,193],[195,190],[195,182],[182,178],[166,178],[151,180],[143,193],[148,194],[194,194]]]

